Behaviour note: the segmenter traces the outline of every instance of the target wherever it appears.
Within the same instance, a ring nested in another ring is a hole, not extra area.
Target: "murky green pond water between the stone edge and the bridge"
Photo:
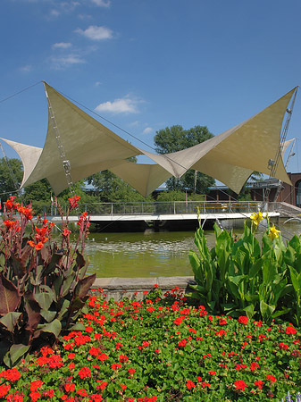
[[[282,235],[291,239],[301,233],[301,222],[280,222]],[[242,222],[226,222],[242,232]],[[261,227],[259,231],[263,231]],[[213,247],[213,230],[206,231],[209,247]],[[163,231],[145,233],[90,233],[86,246],[88,273],[98,278],[157,277],[193,275],[188,261],[189,249],[195,249],[194,231]]]

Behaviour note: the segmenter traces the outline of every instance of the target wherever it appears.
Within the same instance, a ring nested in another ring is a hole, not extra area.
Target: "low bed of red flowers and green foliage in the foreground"
[[[57,348],[0,370],[7,401],[280,401],[301,382],[301,332],[207,314],[179,289],[142,302],[89,298]]]

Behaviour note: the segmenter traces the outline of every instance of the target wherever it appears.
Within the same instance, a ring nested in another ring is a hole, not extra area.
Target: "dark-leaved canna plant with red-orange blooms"
[[[71,241],[68,216],[79,197],[69,199],[59,241],[52,240],[54,223],[33,222],[31,205],[4,203],[0,229],[0,364],[18,364],[29,351],[53,345],[62,331],[80,329],[77,318],[96,275],[85,276],[83,257],[89,217],[79,215],[79,234]],[[30,234],[27,235],[28,228]]]

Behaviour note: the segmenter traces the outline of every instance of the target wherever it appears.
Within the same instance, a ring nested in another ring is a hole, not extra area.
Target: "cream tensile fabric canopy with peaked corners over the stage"
[[[24,166],[21,187],[46,178],[56,195],[67,188],[63,149],[74,182],[108,169],[143,196],[171,176],[180,178],[190,168],[222,181],[236,193],[252,172],[269,175],[269,160],[275,159],[279,150],[284,113],[296,89],[254,117],[195,147],[156,155],[132,146],[46,83],[45,88],[49,119],[44,147],[30,147],[2,138],[21,157]],[[58,146],[62,147],[61,152]],[[147,155],[155,163],[127,161],[135,155]],[[275,178],[291,184],[282,160]]]

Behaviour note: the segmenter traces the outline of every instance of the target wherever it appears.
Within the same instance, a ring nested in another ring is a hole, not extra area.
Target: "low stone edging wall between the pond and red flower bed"
[[[96,278],[93,284],[94,289],[104,290],[107,299],[113,297],[115,300],[121,300],[123,297],[130,299],[136,297],[138,300],[145,297],[143,292],[154,289],[154,285],[166,291],[175,288],[188,291],[189,284],[196,283],[193,276],[169,276],[155,278]]]

